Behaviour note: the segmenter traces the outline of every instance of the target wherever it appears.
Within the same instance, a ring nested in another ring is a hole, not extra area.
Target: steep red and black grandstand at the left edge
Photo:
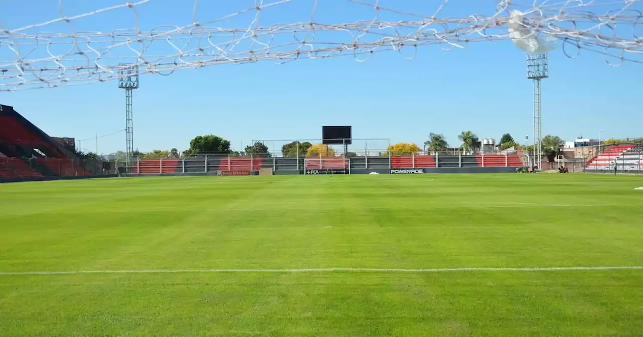
[[[0,105],[0,179],[95,175],[96,163],[80,159],[62,143]]]

